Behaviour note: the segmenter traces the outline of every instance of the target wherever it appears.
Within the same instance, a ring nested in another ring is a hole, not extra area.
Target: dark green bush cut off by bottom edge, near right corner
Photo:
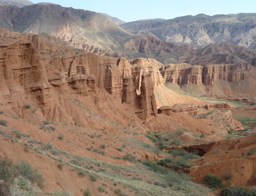
[[[221,196],[256,196],[256,190],[247,187],[230,187],[221,190]]]

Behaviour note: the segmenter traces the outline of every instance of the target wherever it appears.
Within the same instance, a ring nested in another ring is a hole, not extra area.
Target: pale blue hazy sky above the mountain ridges
[[[197,14],[237,14],[256,12],[256,0],[30,0],[64,7],[102,12],[125,22],[146,19],[172,19]]]

